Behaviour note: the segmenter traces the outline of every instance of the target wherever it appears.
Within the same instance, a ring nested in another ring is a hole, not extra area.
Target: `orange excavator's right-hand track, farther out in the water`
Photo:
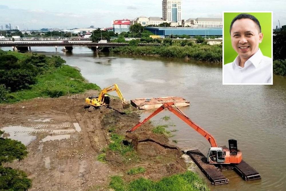
[[[221,148],[229,150],[226,146],[221,146]],[[235,164],[233,170],[245,181],[261,179],[260,174],[244,160],[241,160],[239,164]]]

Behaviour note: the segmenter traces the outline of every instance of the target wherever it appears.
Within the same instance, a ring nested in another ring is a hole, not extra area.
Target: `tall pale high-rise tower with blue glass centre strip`
[[[164,21],[181,22],[181,0],[163,0],[162,15]]]

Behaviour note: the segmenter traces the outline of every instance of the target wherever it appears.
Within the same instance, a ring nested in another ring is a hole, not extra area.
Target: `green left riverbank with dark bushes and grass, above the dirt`
[[[99,90],[59,56],[1,51],[0,103]]]

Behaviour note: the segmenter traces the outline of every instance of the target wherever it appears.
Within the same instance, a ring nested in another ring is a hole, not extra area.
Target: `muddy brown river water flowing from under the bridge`
[[[73,53],[56,53],[54,47],[32,47],[32,51],[60,55],[68,65],[80,68],[84,78],[101,88],[118,84],[129,100],[162,96],[189,100],[190,107],[181,110],[211,133],[218,145],[237,139],[243,159],[262,177],[246,182],[232,170],[223,171],[229,184],[210,186],[212,190],[285,190],[286,77],[274,75],[272,86],[222,85],[222,69],[215,64],[97,54],[86,47],[76,47]],[[143,111],[142,119],[151,112]],[[170,120],[163,121],[165,115]],[[169,130],[176,129],[170,140],[178,141],[178,147],[199,149],[206,155],[209,143],[171,112],[163,111],[152,121],[154,125],[167,124]],[[197,171],[204,177],[198,168]]]

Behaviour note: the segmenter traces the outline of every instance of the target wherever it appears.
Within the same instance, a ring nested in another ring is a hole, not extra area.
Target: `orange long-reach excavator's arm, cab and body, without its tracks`
[[[156,109],[153,113],[151,113],[148,117],[146,117],[143,121],[137,123],[129,129],[127,132],[132,132],[138,127],[140,127],[143,123],[154,117],[160,111],[168,109],[172,113],[174,113],[177,117],[182,119],[186,124],[196,130],[200,135],[202,135],[208,142],[210,143],[210,149],[208,150],[207,160],[210,164],[238,164],[242,160],[241,151],[237,150],[237,141],[234,139],[229,140],[229,149],[223,149],[222,147],[218,147],[215,138],[204,130],[202,127],[194,123],[189,117],[187,117],[179,108],[177,108],[174,103],[164,103],[161,107]]]

